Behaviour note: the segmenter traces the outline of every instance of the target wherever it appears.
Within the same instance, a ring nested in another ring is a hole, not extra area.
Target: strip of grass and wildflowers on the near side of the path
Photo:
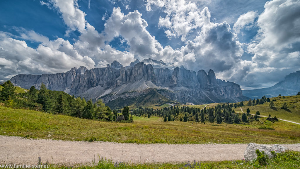
[[[99,158],[99,157],[98,157]],[[268,160],[267,165],[260,165],[258,161],[188,161],[185,163],[160,163],[160,164],[130,164],[123,162],[113,162],[107,159],[96,160],[91,166],[77,165],[77,166],[60,166],[58,164],[50,165],[50,169],[164,169],[164,168],[176,168],[176,169],[298,169],[300,166],[300,152],[286,151],[281,154],[277,154],[277,157]],[[41,161],[42,163],[44,161]],[[0,163],[1,164],[1,163]],[[0,167],[1,168],[1,167]],[[4,168],[4,167],[2,167]]]

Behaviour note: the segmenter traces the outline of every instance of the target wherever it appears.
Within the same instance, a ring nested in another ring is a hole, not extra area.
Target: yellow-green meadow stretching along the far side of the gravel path
[[[42,139],[89,140],[119,143],[299,143],[300,125],[280,121],[248,126],[200,124],[161,118],[134,117],[134,123],[115,123],[0,107],[0,135]],[[276,130],[260,130],[269,126]]]

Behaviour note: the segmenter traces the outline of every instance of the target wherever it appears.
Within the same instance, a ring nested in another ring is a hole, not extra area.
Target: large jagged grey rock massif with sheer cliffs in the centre
[[[162,61],[146,61],[165,65]],[[170,70],[137,62],[138,60],[128,67],[114,61],[104,68],[88,70],[80,66],[65,73],[16,75],[10,81],[22,88],[30,88],[32,85],[39,88],[43,82],[50,90],[65,91],[94,101],[102,99],[104,103],[116,99],[128,101],[145,96],[153,90],[161,100],[167,98],[181,103],[238,102],[248,99],[242,95],[238,84],[217,79],[213,70],[209,70],[208,74],[204,70],[196,73],[183,66]]]

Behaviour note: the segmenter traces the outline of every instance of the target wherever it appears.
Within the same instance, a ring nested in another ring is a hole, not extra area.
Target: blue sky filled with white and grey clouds
[[[0,81],[163,60],[242,89],[300,70],[298,0],[0,1]]]

